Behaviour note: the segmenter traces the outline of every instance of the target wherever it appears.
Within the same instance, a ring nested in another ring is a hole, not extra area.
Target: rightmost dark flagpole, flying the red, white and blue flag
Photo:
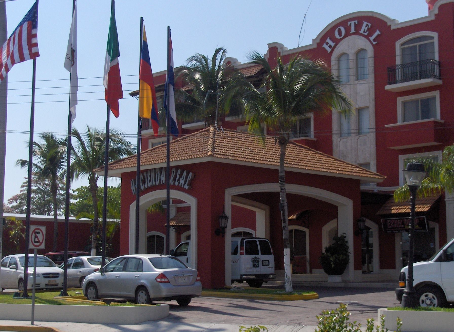
[[[166,158],[166,255],[170,253],[170,26],[167,27],[167,158]]]

